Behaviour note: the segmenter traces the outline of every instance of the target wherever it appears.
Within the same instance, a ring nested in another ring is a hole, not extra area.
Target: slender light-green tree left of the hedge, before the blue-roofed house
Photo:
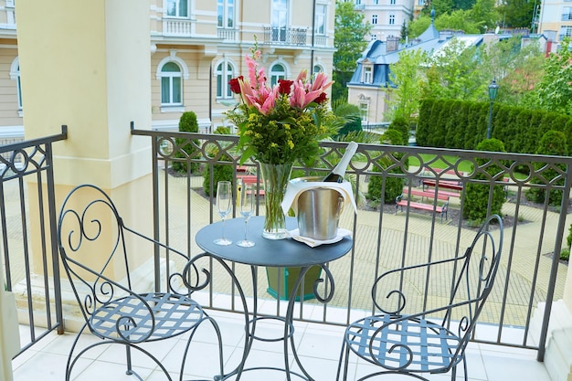
[[[389,79],[397,86],[389,90],[386,120],[403,118],[411,122],[419,111],[421,89],[424,76],[421,64],[427,61],[427,54],[421,49],[409,49],[399,52],[399,60],[389,66]]]

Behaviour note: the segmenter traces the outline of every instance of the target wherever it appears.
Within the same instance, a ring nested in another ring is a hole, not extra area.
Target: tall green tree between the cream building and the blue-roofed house
[[[352,79],[356,61],[367,48],[365,35],[371,25],[364,22],[364,15],[355,11],[355,4],[337,0],[335,2],[334,30],[334,86],[332,101],[347,99],[345,84]]]

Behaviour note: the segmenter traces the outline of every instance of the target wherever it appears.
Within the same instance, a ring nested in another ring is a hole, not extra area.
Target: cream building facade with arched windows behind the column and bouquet
[[[24,137],[14,0],[0,0],[0,143]],[[194,111],[201,132],[228,125],[228,79],[247,75],[258,44],[270,81],[332,73],[334,0],[150,0],[152,128],[176,130]],[[26,80],[26,79],[22,79]]]

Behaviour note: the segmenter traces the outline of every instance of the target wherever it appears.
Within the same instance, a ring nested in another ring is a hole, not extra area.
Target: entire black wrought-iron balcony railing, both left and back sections
[[[238,137],[137,129],[132,129],[132,135],[133,139],[148,139],[152,144],[150,160],[153,162],[155,238],[191,255],[200,253],[195,243],[196,232],[216,219],[212,196],[215,174],[220,170],[227,171],[235,180],[239,175],[236,152]],[[0,153],[13,152],[10,155],[13,159],[18,155],[26,158],[25,169],[18,169],[0,154],[0,164],[4,164],[4,169],[0,171],[0,244],[5,256],[6,287],[8,290],[19,287],[27,292],[24,292],[26,303],[23,308],[30,313],[31,329],[34,329],[34,322],[39,321],[37,314],[48,320],[48,329],[62,328],[58,253],[49,244],[55,242],[55,239],[49,237],[53,234],[50,232],[55,231],[53,172],[58,170],[51,167],[51,143],[64,138],[65,133],[62,133],[41,142],[11,144],[0,149]],[[296,166],[294,176],[326,174],[339,160],[345,145],[346,143],[322,142],[323,154],[319,163],[312,168]],[[193,149],[188,153],[188,150],[183,151],[184,147]],[[444,170],[429,169],[438,161],[446,164]],[[172,169],[175,163],[183,164],[183,168],[187,168],[186,172],[175,175]],[[467,164],[473,165],[468,173],[466,169],[461,169]],[[258,176],[260,173],[256,163],[247,163],[245,166],[253,175]],[[489,174],[491,167],[495,168],[493,175]],[[194,170],[191,171],[191,168]],[[465,209],[470,207],[467,206],[467,198],[471,187],[485,189],[482,202],[489,205],[489,208],[495,190],[501,187],[507,196],[503,206],[503,263],[481,319],[482,323],[490,323],[494,327],[494,333],[488,339],[481,338],[479,342],[538,349],[538,357],[542,359],[551,304],[562,298],[566,280],[566,267],[559,263],[558,256],[554,253],[559,253],[566,245],[571,168],[572,157],[360,144],[347,172],[355,184],[356,199],[363,200],[362,196],[374,185],[379,187],[381,196],[375,203],[361,204],[357,214],[351,208],[346,208],[340,225],[353,231],[355,245],[343,259],[328,264],[334,274],[334,299],[327,304],[300,302],[295,318],[313,323],[345,325],[355,320],[356,316],[372,312],[374,305],[369,295],[377,275],[403,263],[454,256],[466,247],[467,239],[471,239],[474,234],[471,225],[462,218]],[[529,175],[522,175],[521,172],[529,172]],[[439,181],[455,179],[462,185],[459,197],[450,201],[449,216],[443,223],[440,222],[440,216],[430,212],[405,208],[403,212],[397,213],[395,199],[384,196],[385,190],[396,180],[400,180],[404,186],[417,187],[425,178]],[[26,184],[34,186],[30,188]],[[205,184],[207,189],[204,188]],[[560,195],[563,201],[556,207],[550,206],[548,200],[539,205],[531,205],[525,197],[531,189]],[[35,208],[26,205],[30,193],[37,195],[32,198],[43,200],[47,205]],[[6,199],[10,203],[6,203]],[[6,210],[6,205],[11,205],[13,209]],[[31,214],[31,210],[37,212]],[[44,215],[44,210],[49,212]],[[262,210],[263,207],[257,209],[257,214]],[[28,217],[28,214],[34,218]],[[41,228],[20,228],[29,225]],[[28,230],[47,237],[39,239],[44,244],[40,248],[44,263],[34,267],[29,266],[31,254],[27,243],[29,238],[26,236]],[[169,263],[171,260],[168,253],[157,251],[155,256],[156,264]],[[16,263],[21,266],[17,267]],[[214,267],[213,263],[207,266],[210,266],[208,270],[211,271],[212,279],[209,294],[203,303],[211,309],[239,312],[240,306],[235,302],[238,294],[228,279],[228,274]],[[244,280],[243,284],[248,283],[249,270],[240,264],[230,263],[229,266],[238,280]],[[164,289],[162,280],[169,279],[165,276],[168,274],[164,274],[168,268],[155,268],[157,290]],[[266,276],[264,271],[259,271],[259,275],[258,293],[264,295]],[[39,297],[48,301],[42,304],[42,308],[36,304],[38,295],[34,294],[36,289],[33,285],[38,283],[41,285],[38,289],[47,292]],[[326,280],[319,291],[327,291],[330,287],[331,284]],[[422,282],[416,287],[418,300],[412,302],[412,308],[415,308],[416,303],[430,305],[436,298],[447,297],[446,292],[437,293],[425,287]],[[539,302],[546,302],[546,308],[540,316],[535,316],[533,312]],[[273,310],[279,314],[284,313],[284,304],[275,301]],[[56,318],[50,320],[51,316]],[[508,326],[523,327],[522,336],[516,340],[508,339],[503,334]],[[33,333],[32,337],[34,342],[41,334]]]

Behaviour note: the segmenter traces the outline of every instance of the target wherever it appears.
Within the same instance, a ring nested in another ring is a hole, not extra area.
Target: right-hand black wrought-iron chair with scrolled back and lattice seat
[[[468,380],[465,348],[493,288],[502,249],[503,220],[494,215],[486,219],[459,257],[389,270],[379,276],[372,299],[381,313],[346,328],[337,379],[347,379],[350,355],[354,354],[380,367],[356,381],[392,374],[428,380],[422,375],[448,372],[454,380],[461,362]],[[439,299],[423,297],[428,289]],[[408,304],[422,304],[424,311],[409,312],[418,307]]]

